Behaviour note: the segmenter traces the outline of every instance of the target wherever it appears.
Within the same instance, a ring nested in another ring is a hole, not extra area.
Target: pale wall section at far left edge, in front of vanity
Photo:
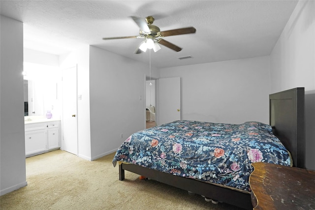
[[[0,16],[0,19],[0,195],[3,195],[27,185],[27,182],[22,75],[23,23],[4,16]]]

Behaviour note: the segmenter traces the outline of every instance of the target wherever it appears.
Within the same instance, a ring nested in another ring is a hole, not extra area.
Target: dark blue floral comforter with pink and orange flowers
[[[251,191],[251,163],[290,166],[289,152],[270,125],[179,120],[132,134],[118,149],[117,161],[176,176]]]

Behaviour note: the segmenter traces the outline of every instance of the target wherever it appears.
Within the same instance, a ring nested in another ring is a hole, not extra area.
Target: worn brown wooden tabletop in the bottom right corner
[[[271,163],[252,163],[254,210],[315,210],[315,171]]]

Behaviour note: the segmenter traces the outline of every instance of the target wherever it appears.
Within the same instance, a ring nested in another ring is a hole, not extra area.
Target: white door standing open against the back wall
[[[181,120],[181,78],[158,79],[158,124]]]

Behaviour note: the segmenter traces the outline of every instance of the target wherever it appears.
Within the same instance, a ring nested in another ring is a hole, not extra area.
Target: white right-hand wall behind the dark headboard
[[[271,91],[305,87],[306,168],[315,170],[315,1],[299,1],[271,57]]]

